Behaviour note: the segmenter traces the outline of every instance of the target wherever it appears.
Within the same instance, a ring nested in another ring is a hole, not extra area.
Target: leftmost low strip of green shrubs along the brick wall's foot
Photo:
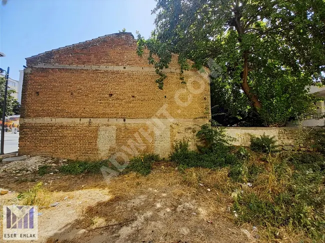
[[[99,174],[102,166],[111,167],[107,161],[88,162],[88,161],[74,161],[66,165],[62,165],[59,171],[65,174],[79,175],[85,173]]]

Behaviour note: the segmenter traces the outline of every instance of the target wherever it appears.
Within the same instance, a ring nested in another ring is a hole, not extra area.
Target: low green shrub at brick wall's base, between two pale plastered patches
[[[143,154],[130,159],[129,164],[126,166],[124,172],[136,172],[143,176],[151,172],[152,164],[160,161],[159,155],[156,154]]]

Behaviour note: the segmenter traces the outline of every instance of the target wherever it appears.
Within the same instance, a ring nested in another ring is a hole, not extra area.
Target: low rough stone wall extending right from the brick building
[[[321,128],[319,128],[321,129]],[[227,135],[236,138],[233,145],[250,145],[250,135],[260,137],[265,134],[273,137],[279,145],[279,149],[293,151],[316,151],[313,148],[314,141],[310,136],[311,128],[298,127],[227,127]]]

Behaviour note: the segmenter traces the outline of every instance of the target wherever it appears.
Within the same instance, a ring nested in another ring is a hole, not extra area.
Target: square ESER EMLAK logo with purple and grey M
[[[37,206],[3,206],[3,240],[37,240]]]

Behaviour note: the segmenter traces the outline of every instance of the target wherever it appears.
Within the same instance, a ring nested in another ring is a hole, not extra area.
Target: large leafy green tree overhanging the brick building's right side
[[[265,125],[283,125],[312,108],[305,86],[324,83],[323,0],[157,0],[153,12],[156,28],[148,40],[138,35],[138,52],[157,54],[151,63],[160,72],[169,52],[179,54],[180,64],[212,60],[213,83],[239,104],[231,113],[251,105]]]

